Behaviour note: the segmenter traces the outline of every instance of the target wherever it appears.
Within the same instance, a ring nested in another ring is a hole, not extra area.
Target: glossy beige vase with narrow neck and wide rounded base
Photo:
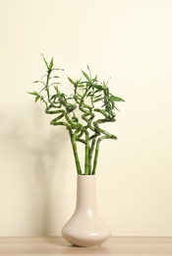
[[[77,246],[100,245],[111,230],[97,211],[96,176],[77,176],[76,210],[61,230],[62,236]]]

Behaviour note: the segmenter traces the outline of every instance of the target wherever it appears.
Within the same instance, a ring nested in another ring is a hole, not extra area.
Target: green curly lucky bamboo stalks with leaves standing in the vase
[[[42,55],[43,56],[43,55]],[[54,68],[53,58],[48,63],[43,56],[46,65],[46,74],[38,81],[42,85],[39,92],[31,92],[37,100],[45,103],[45,113],[55,117],[51,125],[65,126],[69,132],[77,173],[80,175],[94,175],[96,172],[99,147],[102,140],[117,137],[100,127],[101,124],[115,122],[117,109],[115,102],[124,101],[123,98],[113,96],[109,92],[108,82],[99,82],[97,76],[91,76],[89,67],[87,73],[82,71],[83,77],[73,81],[68,77],[73,86],[73,94],[65,95],[59,89],[60,77],[56,75],[63,71]],[[118,109],[117,109],[118,110]],[[85,167],[82,169],[78,152],[78,143],[85,147]]]

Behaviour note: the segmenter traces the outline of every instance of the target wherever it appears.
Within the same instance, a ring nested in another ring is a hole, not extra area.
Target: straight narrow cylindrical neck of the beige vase
[[[96,207],[96,176],[77,176],[77,208]]]

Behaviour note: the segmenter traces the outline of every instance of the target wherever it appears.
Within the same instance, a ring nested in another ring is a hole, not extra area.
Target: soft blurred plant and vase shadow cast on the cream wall
[[[4,145],[12,148],[9,154],[13,154],[15,151],[19,152],[17,154],[19,164],[21,164],[19,167],[21,172],[18,169],[19,180],[21,180],[20,175],[23,176],[24,171],[26,171],[27,177],[22,181],[26,182],[26,187],[29,188],[27,197],[32,200],[31,203],[29,201],[29,208],[31,206],[32,209],[28,218],[30,225],[31,222],[35,224],[32,226],[32,232],[36,235],[50,235],[53,225],[53,211],[55,211],[53,209],[54,201],[58,205],[60,203],[58,200],[61,199],[60,195],[56,193],[57,191],[63,192],[64,187],[64,170],[68,162],[64,161],[62,156],[64,152],[67,155],[65,146],[69,143],[69,137],[64,127],[50,126],[41,112],[40,109],[34,108],[31,116],[25,117],[25,119],[20,115],[8,118],[1,114],[0,138],[2,138]],[[9,172],[12,172],[12,169]],[[27,180],[28,177],[29,181]],[[21,181],[16,182],[18,186],[18,182]],[[21,192],[23,193],[25,189],[22,188]],[[58,211],[58,215],[59,213]],[[61,218],[62,216],[56,215],[57,222],[60,222]]]

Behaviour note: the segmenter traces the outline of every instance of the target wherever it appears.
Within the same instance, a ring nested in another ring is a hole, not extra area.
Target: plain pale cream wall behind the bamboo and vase
[[[26,91],[40,52],[126,99],[97,171],[114,235],[172,235],[172,1],[6,0],[0,7],[0,235],[57,235],[75,208],[68,135]]]

